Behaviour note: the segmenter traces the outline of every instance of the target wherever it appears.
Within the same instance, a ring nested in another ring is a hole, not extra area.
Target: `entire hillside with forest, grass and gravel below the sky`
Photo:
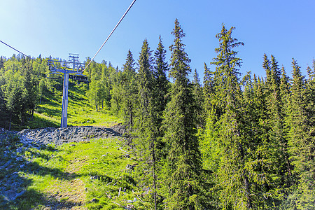
[[[1,134],[4,209],[315,209],[315,60],[290,78],[265,54],[265,78],[241,76],[222,25],[201,85],[174,23],[169,64],[162,38],[121,70],[92,61],[64,129],[47,58],[0,59],[0,125],[27,128]]]

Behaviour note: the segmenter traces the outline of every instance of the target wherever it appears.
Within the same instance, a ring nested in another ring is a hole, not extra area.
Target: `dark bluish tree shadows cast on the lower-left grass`
[[[54,180],[71,181],[78,178],[77,174],[62,172],[62,169],[55,166],[47,167],[38,162],[29,162],[18,150],[18,140],[0,140],[0,209],[71,209],[83,205],[81,202],[69,201],[62,195],[50,195],[36,190],[36,185],[40,184],[41,179],[45,180],[45,176],[51,176]],[[52,149],[54,148],[43,146],[38,153],[29,154],[33,156],[33,160],[41,158],[45,162],[50,157],[43,151]],[[65,160],[61,158],[58,161]],[[34,183],[34,177],[38,178],[38,183]]]

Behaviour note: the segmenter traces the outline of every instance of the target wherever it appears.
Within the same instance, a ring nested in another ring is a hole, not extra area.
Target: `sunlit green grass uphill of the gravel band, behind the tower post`
[[[69,126],[103,126],[111,127],[122,120],[104,108],[95,111],[90,106],[85,95],[86,87],[80,87],[70,83],[68,102],[68,125]],[[31,129],[41,127],[59,127],[62,112],[62,90],[50,92],[49,97],[43,97],[34,113],[34,120],[30,120],[28,127]]]

